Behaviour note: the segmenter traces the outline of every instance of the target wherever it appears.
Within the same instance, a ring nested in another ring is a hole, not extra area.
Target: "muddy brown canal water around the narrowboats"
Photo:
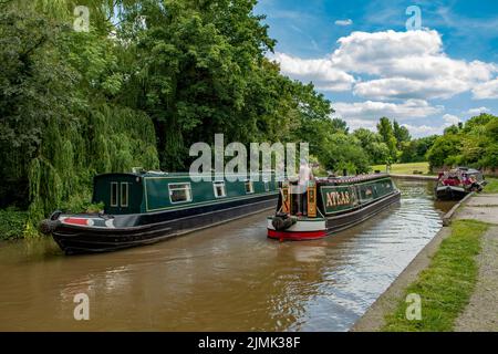
[[[319,241],[266,237],[268,212],[153,246],[63,256],[0,243],[1,331],[347,331],[442,227],[433,184]],[[85,293],[90,320],[75,321]]]

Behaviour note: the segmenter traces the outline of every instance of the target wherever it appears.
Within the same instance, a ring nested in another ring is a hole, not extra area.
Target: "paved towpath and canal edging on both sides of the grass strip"
[[[498,332],[498,194],[478,194],[466,198],[452,212],[450,220],[471,219],[489,225],[481,239],[477,256],[479,267],[477,283],[469,303],[455,321],[458,332]],[[443,228],[436,237],[406,267],[391,287],[372,304],[351,331],[381,331],[385,315],[392,313],[405,289],[426,269],[440,242],[449,237],[450,228]]]

